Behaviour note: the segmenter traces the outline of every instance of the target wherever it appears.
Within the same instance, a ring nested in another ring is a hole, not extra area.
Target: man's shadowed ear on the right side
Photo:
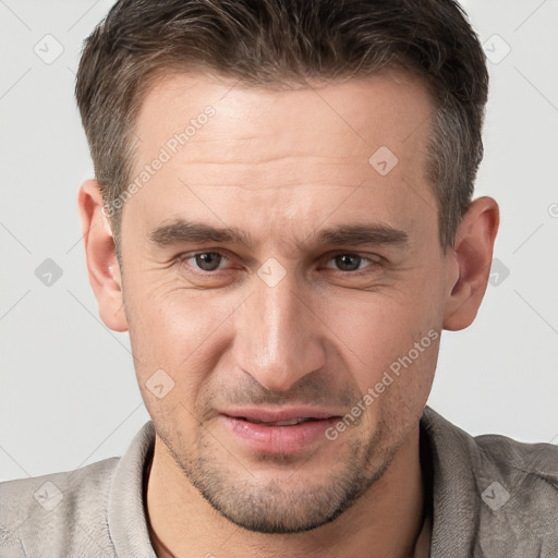
[[[498,204],[492,197],[475,199],[463,216],[447,256],[445,329],[464,329],[475,319],[490,275],[498,226]]]

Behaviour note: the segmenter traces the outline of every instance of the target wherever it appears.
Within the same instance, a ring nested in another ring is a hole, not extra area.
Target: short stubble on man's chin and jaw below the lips
[[[333,471],[330,468],[328,476],[318,483],[296,472],[299,468],[307,471],[313,460],[319,466],[316,454],[306,463],[289,454],[256,456],[253,463],[258,470],[266,466],[266,461],[272,462],[274,469],[290,465],[291,473],[281,472],[282,480],[277,482],[268,473],[264,473],[266,480],[258,480],[250,472],[251,466],[256,469],[254,464],[227,453],[203,427],[195,451],[180,449],[180,444],[158,434],[187,481],[216,511],[240,527],[267,534],[301,533],[333,521],[384,475],[404,441],[399,433],[398,439],[389,444],[393,429],[390,432],[383,422],[364,445],[354,435],[347,440],[342,436],[328,440],[331,453],[338,452],[336,444],[344,444],[342,463]]]

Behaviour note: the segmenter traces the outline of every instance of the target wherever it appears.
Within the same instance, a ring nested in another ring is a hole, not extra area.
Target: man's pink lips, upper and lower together
[[[219,416],[229,433],[248,449],[260,453],[283,454],[327,441],[325,430],[340,418],[337,414],[311,407],[281,410],[229,409],[221,411]],[[260,422],[248,422],[246,418]],[[294,418],[311,421],[290,426],[266,424]]]

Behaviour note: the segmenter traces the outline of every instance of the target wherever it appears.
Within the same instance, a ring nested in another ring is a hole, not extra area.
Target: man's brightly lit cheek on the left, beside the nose
[[[216,329],[228,313],[190,294],[179,299],[136,301],[130,339],[140,390],[159,432],[193,442],[197,423],[192,418],[199,416],[202,393],[227,351],[228,341]]]

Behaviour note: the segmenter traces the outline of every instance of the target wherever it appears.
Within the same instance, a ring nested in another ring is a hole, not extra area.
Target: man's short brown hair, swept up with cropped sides
[[[274,88],[402,66],[435,113],[427,177],[440,243],[454,242],[483,157],[488,73],[453,0],[120,0],[85,40],[75,95],[105,205],[124,192],[134,125],[165,72],[196,69]],[[117,250],[121,209],[111,213]]]

